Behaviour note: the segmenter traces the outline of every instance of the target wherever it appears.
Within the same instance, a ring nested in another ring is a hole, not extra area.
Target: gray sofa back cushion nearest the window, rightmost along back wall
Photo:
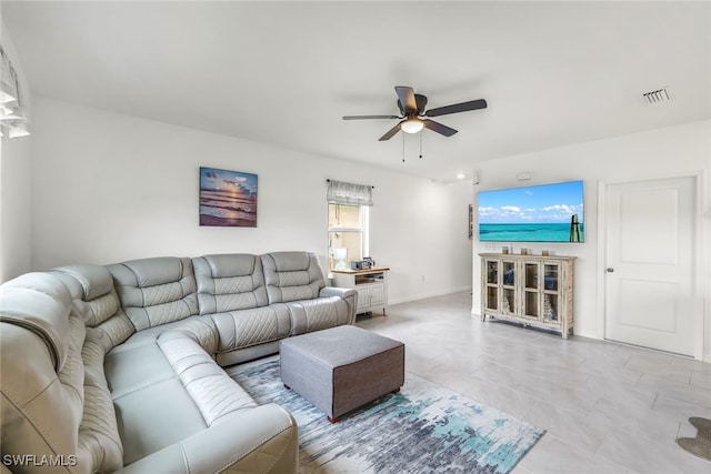
[[[262,266],[270,304],[318,297],[326,286],[316,253],[267,253]]]

